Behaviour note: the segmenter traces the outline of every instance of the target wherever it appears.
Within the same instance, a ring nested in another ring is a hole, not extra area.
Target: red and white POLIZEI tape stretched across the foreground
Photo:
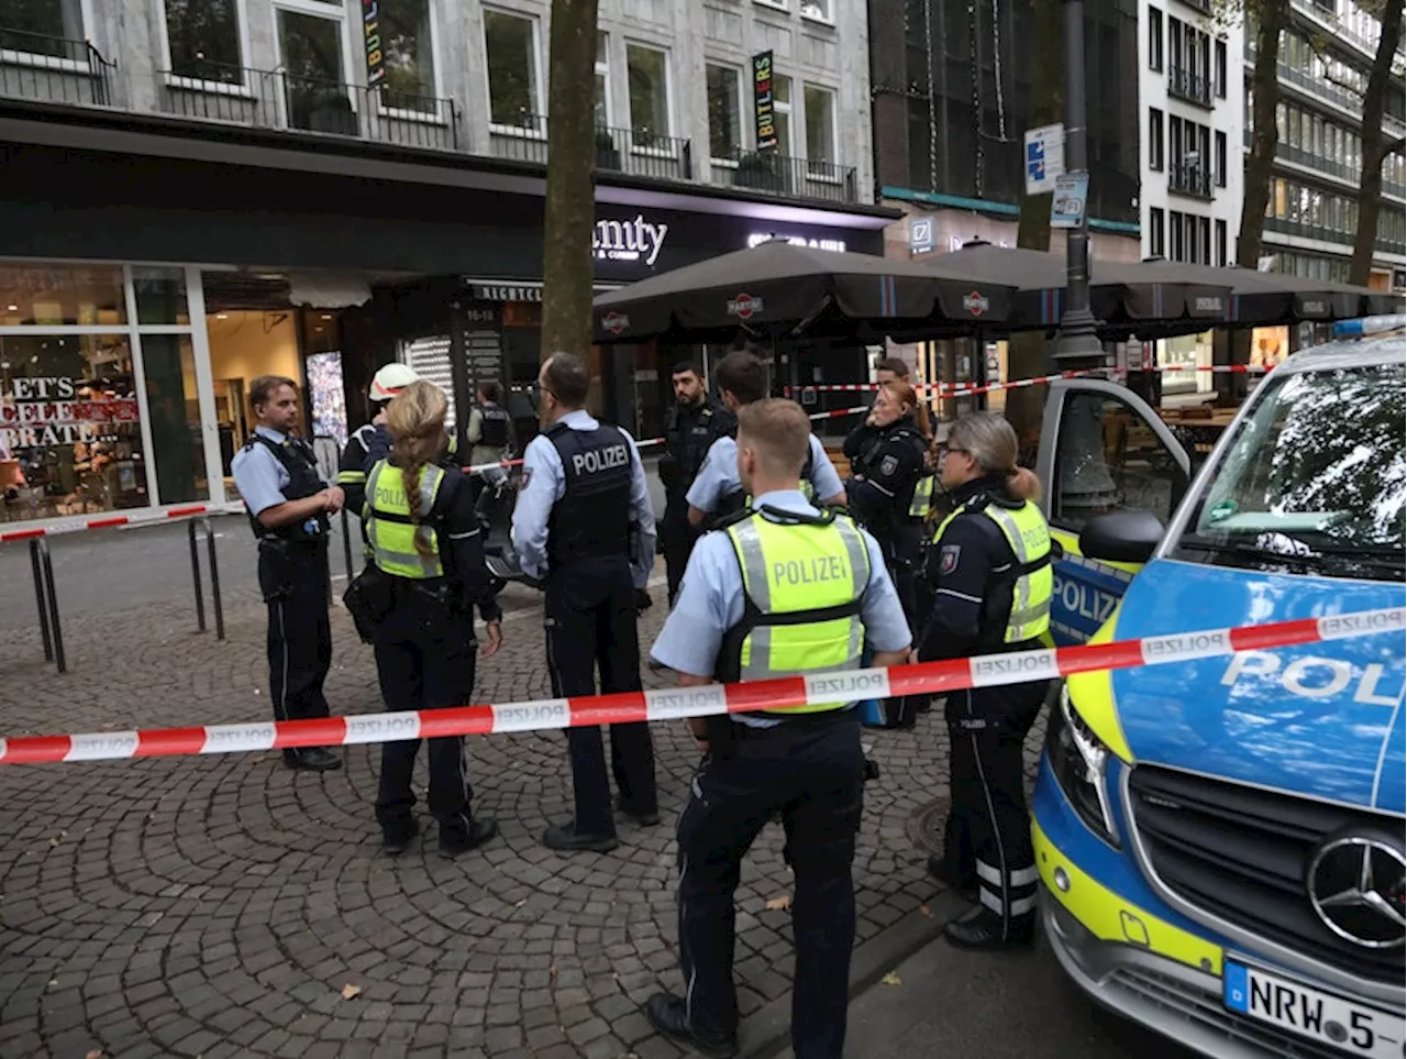
[[[756,710],[944,694],[1050,680],[1072,673],[1134,669],[1221,658],[1242,651],[1287,648],[1324,641],[1407,631],[1407,607],[1351,611],[1241,628],[1173,632],[1112,644],[1019,651],[951,662],[920,662],[889,669],[816,673],[741,684],[706,684],[577,698],[540,698],[501,706],[463,706],[311,721],[265,721],[187,728],[156,728],[84,735],[25,735],[0,739],[0,765],[172,758],[238,753],[295,746],[424,739],[446,735],[499,735],[642,721],[675,721]]]

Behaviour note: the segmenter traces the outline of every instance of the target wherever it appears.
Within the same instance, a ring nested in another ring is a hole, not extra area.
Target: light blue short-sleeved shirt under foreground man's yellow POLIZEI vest
[[[753,499],[753,508],[770,504],[781,511],[816,514],[816,508],[802,493],[764,493]],[[767,518],[764,514],[754,518]],[[865,646],[871,651],[902,651],[912,635],[899,606],[899,593],[884,565],[879,545],[860,531],[870,549],[870,583],[861,597],[860,620],[865,627]],[[723,634],[743,620],[743,572],[737,552],[726,532],[705,534],[694,545],[694,555],[684,570],[674,610],[660,629],[650,655],[677,673],[712,676],[718,663]]]

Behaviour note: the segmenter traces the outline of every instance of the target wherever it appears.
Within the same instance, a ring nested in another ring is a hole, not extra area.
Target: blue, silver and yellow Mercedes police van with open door
[[[1397,321],[1399,324],[1407,321]],[[1202,468],[1051,389],[1058,642],[1407,606],[1407,334],[1296,353]],[[1407,635],[1072,676],[1033,800],[1047,938],[1213,1056],[1407,1056]]]

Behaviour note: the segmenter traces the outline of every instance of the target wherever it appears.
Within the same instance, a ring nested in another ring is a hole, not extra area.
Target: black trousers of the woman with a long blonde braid
[[[373,648],[387,710],[467,706],[474,690],[474,620],[395,579],[395,607],[377,628]],[[429,741],[429,807],[440,834],[467,834],[473,789],[464,767],[464,737]],[[388,835],[408,834],[415,794],[411,775],[419,739],[381,744],[376,818]]]

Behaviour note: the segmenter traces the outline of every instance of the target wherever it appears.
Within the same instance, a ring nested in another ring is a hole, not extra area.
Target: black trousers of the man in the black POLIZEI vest
[[[640,641],[636,629],[635,580],[625,556],[582,559],[553,566],[546,586],[547,672],[559,698],[640,690]],[[611,782],[599,728],[568,728],[575,829],[582,835],[615,835]],[[654,745],[647,724],[611,725],[611,766],[626,808],[658,811],[654,787]]]

